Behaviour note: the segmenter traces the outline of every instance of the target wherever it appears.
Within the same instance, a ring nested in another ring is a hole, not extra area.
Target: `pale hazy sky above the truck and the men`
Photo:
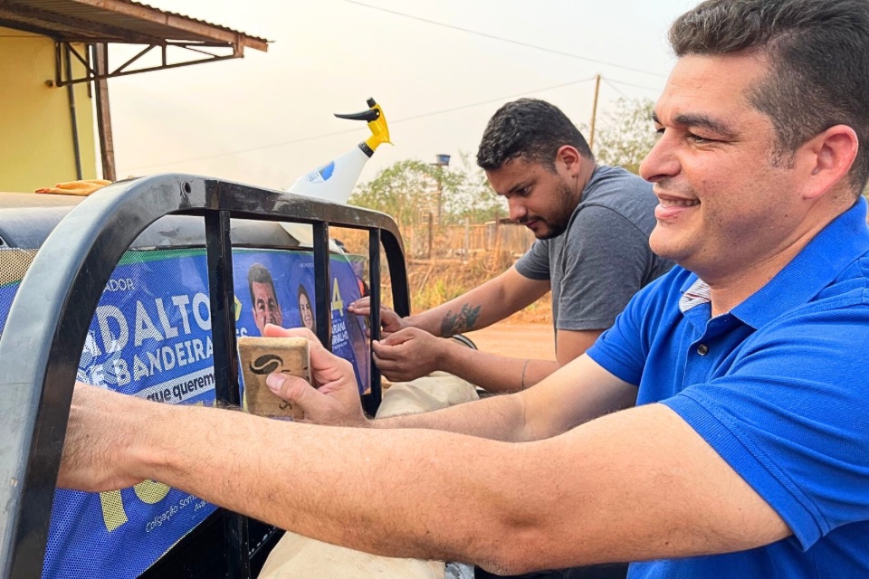
[[[473,162],[486,121],[509,100],[549,100],[587,127],[597,74],[606,127],[616,99],[657,98],[674,62],[667,28],[695,3],[148,0],[272,43],[243,59],[111,79],[117,173],[282,189],[368,137],[364,123],[332,114],[366,109],[369,97],[394,146],[377,149],[360,182],[402,159]],[[113,48],[110,65],[129,50]]]

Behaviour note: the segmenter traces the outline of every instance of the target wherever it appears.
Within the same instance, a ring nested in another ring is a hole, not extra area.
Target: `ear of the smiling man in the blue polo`
[[[801,147],[807,161],[807,186],[803,196],[817,199],[832,189],[850,188],[848,173],[859,147],[855,130],[847,125],[827,128],[807,141]]]

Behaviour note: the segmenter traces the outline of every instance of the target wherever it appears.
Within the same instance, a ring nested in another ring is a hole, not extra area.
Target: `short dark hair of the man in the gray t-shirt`
[[[521,156],[554,171],[555,155],[564,145],[575,147],[582,157],[595,158],[582,133],[561,109],[545,100],[513,100],[489,119],[477,150],[477,165],[489,171]]]

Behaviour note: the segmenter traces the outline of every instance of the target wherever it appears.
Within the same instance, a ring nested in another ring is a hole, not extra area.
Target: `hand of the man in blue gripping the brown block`
[[[298,376],[276,372],[266,380],[274,394],[287,402],[298,404],[310,422],[341,426],[368,424],[362,413],[353,366],[347,360],[330,353],[306,327],[285,329],[269,324],[263,335],[308,338],[310,373],[314,384],[308,384]]]

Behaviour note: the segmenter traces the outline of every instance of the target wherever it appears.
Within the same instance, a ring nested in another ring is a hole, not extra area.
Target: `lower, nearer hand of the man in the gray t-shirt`
[[[371,345],[374,361],[391,382],[407,382],[442,369],[448,344],[425,330],[406,327]]]

